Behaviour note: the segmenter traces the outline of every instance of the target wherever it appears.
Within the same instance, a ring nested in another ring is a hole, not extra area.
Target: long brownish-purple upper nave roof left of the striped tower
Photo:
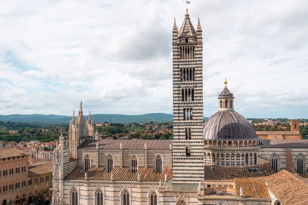
[[[79,149],[95,149],[98,143],[99,149],[144,149],[144,143],[147,143],[147,149],[166,150],[172,140],[85,140]]]

